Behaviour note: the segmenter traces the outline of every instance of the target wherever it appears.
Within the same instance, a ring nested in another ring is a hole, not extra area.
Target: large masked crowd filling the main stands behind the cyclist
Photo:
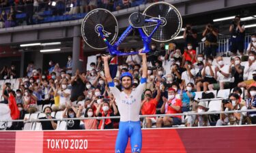
[[[240,25],[239,16],[236,22],[231,24],[230,33],[232,41],[239,42],[244,37],[244,25]],[[196,54],[197,31],[190,24],[184,31],[185,47],[177,44],[169,44],[166,50],[165,44],[152,43],[151,50],[147,53],[147,83],[141,101],[141,114],[178,114],[182,112],[208,112],[209,105],[196,99],[196,94],[201,93],[203,99],[214,99],[214,90],[222,92],[224,89],[232,89],[228,92],[227,99],[221,101],[221,109],[245,110],[256,109],[256,34],[251,35],[251,43],[246,49],[246,54],[241,44],[232,44],[233,56],[224,61],[222,56],[216,54],[216,30],[212,25],[205,27],[206,48]],[[236,37],[235,37],[236,36]],[[130,48],[134,52],[135,48]],[[139,48],[138,48],[139,50]],[[236,54],[240,52],[240,56]],[[122,63],[117,64],[118,58]],[[118,107],[109,90],[101,56],[97,56],[95,63],[90,63],[87,71],[76,70],[72,75],[72,57],[68,56],[67,65],[61,68],[58,63],[49,61],[48,70],[42,71],[33,66],[33,62],[27,66],[27,75],[18,79],[18,88],[13,90],[12,84],[3,84],[3,101],[8,103],[11,95],[16,97],[16,103],[20,110],[20,118],[24,114],[44,112],[42,118],[54,118],[52,112],[62,112],[63,118],[119,116]],[[130,72],[133,76],[132,88],[140,84],[141,56],[139,54],[112,58],[109,65],[111,77],[115,86],[122,90],[122,80],[119,76],[124,72]],[[2,79],[15,78],[15,67],[4,67],[1,70]],[[202,92],[201,92],[202,91]],[[54,104],[52,107],[39,106]],[[42,108],[42,107],[41,107]],[[210,126],[212,116],[165,116],[141,119],[141,124],[150,128],[153,126],[170,127],[185,124],[186,126]],[[255,124],[256,112],[221,114],[215,118],[216,126],[227,124]],[[83,123],[81,123],[83,122]],[[88,119],[68,120],[67,129],[117,129],[119,119]],[[214,124],[214,125],[215,125]],[[16,125],[16,124],[15,124]],[[23,124],[19,124],[22,129]],[[17,127],[17,125],[15,126]],[[55,121],[43,121],[43,130],[57,128]],[[14,128],[16,129],[16,128]]]

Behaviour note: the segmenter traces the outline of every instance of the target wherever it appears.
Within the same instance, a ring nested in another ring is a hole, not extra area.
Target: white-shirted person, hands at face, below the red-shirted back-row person
[[[196,71],[195,69],[193,69],[193,65],[190,61],[186,61],[184,68],[186,69],[186,71],[182,72],[182,84],[185,87],[186,84],[188,83],[193,83],[195,84],[195,75],[196,75]]]

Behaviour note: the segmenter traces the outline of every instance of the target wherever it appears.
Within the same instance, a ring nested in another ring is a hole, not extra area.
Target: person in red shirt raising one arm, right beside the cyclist
[[[156,114],[156,105],[161,96],[160,82],[156,83],[157,95],[156,98],[152,98],[152,90],[146,89],[144,92],[145,98],[141,102],[141,114],[142,115],[154,115]],[[156,123],[156,118],[145,118],[147,128],[151,128],[152,124]]]

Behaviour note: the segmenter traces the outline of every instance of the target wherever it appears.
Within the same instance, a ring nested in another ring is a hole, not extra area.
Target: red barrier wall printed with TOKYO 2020
[[[141,152],[255,152],[256,126],[143,129]],[[115,152],[117,130],[1,131],[0,152]],[[126,152],[130,151],[130,143]]]

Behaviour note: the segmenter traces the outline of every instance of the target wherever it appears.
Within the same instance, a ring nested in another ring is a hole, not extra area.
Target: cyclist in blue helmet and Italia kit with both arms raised
[[[141,95],[143,94],[143,89],[145,88],[145,83],[147,82],[147,56],[145,53],[141,53],[143,67],[142,67],[142,78],[141,83],[137,88],[132,90],[132,74],[129,72],[122,73],[120,80],[124,90],[120,92],[111,78],[109,71],[109,57],[102,57],[104,60],[104,71],[107,82],[109,82],[109,88],[115,97],[119,113],[119,132],[117,135],[115,143],[115,152],[124,153],[126,151],[126,146],[128,139],[130,137],[130,144],[132,153],[140,153],[142,146],[142,133],[141,133],[141,122],[139,120],[139,112],[141,109]]]

